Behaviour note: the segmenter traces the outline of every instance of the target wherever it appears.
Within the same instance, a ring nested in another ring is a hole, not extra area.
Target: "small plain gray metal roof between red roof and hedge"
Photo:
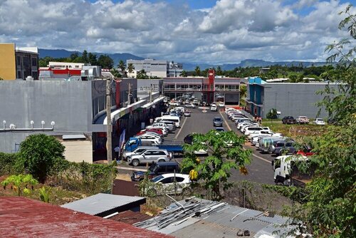
[[[65,205],[62,205],[61,207],[72,209],[77,212],[96,215],[102,212],[106,212],[110,209],[130,205],[130,203],[134,202],[144,204],[146,202],[146,198],[98,193],[97,195],[85,197],[82,200],[69,202]]]

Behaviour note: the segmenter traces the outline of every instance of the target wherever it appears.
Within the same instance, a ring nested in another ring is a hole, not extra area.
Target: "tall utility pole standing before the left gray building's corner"
[[[111,81],[110,78],[106,79],[106,150],[108,152],[108,165],[112,163],[112,127],[111,127]]]

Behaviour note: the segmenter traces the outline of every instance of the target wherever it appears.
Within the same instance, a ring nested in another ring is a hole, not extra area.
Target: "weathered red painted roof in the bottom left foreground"
[[[24,197],[0,197],[0,237],[170,237]]]

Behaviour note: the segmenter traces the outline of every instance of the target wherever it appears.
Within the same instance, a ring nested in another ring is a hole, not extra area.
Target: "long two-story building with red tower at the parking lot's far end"
[[[177,98],[184,94],[207,103],[224,101],[228,104],[239,104],[241,78],[215,77],[215,71],[210,70],[208,78],[164,78],[164,95]]]

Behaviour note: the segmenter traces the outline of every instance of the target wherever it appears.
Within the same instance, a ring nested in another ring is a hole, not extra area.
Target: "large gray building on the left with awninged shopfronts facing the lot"
[[[66,145],[68,160],[93,162],[105,158],[105,84],[105,80],[0,81],[0,152],[17,152],[28,135],[45,133]],[[112,81],[111,86],[112,115],[120,110],[112,116],[115,143],[123,130],[125,138],[137,133],[142,120],[149,120],[148,113],[159,114],[160,108],[150,110],[146,98],[138,100],[135,78]]]

